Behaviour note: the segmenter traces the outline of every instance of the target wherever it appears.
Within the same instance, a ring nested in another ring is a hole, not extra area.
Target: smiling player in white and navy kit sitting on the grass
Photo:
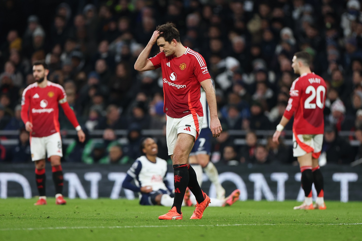
[[[138,192],[140,205],[162,205],[173,204],[172,189],[168,188],[167,162],[157,157],[158,146],[152,138],[146,138],[141,142],[140,151],[145,155],[140,156],[127,171],[127,176],[122,187]],[[135,185],[132,184],[134,180]],[[230,206],[239,199],[240,190],[233,191],[226,199],[211,198],[209,206]],[[196,199],[186,193],[183,206],[191,202],[196,205]],[[188,205],[189,206],[189,205]]]

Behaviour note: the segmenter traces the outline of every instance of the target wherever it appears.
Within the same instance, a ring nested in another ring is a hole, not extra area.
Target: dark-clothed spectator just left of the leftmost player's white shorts
[[[9,150],[7,159],[11,160],[12,163],[30,163],[29,133],[25,129],[20,130],[18,141],[18,144]]]

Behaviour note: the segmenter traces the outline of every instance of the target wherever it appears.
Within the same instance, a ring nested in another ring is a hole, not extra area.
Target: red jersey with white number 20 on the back
[[[295,114],[295,134],[324,133],[323,110],[326,90],[324,79],[315,73],[302,74],[292,83],[284,116],[289,120]]]

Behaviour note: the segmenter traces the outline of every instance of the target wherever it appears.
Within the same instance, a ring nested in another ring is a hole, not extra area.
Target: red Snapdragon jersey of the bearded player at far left
[[[30,135],[46,137],[59,132],[58,103],[66,102],[67,95],[61,85],[47,81],[45,88],[39,87],[37,82],[26,87],[22,94],[21,106],[24,111],[29,110],[28,120],[33,124],[33,132]]]

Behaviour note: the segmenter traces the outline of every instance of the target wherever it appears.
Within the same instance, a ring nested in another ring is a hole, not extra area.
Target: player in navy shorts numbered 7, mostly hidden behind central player
[[[213,82],[213,81],[212,81]],[[210,162],[211,154],[211,138],[212,134],[210,131],[210,112],[209,106],[206,101],[205,90],[201,87],[200,102],[203,109],[203,122],[200,130],[199,137],[195,141],[195,144],[191,150],[189,156],[189,163],[195,170],[197,181],[199,185],[202,185],[202,170],[205,171],[207,177],[209,177],[212,184],[216,188],[216,198],[225,198],[225,189],[219,182],[219,173],[215,165]]]

